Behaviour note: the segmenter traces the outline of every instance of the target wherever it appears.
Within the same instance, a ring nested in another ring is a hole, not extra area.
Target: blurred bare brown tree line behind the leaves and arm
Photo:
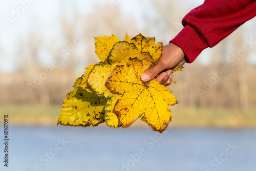
[[[133,11],[123,12],[125,4],[95,4],[90,13],[74,9],[69,16],[62,11],[58,21],[61,38],[49,40],[37,30],[20,36],[13,49],[15,71],[0,73],[0,103],[61,104],[83,68],[99,61],[93,36],[113,33],[122,40],[125,33],[131,37],[142,33],[166,45],[182,29],[181,19],[192,8],[182,9],[173,1],[146,2],[140,2],[142,15],[138,17]],[[210,58],[209,65],[201,65],[198,59],[174,73],[177,84],[169,88],[179,106],[248,109],[256,104],[256,68],[248,60],[255,56],[255,44],[249,43],[255,40],[252,20],[200,55]]]

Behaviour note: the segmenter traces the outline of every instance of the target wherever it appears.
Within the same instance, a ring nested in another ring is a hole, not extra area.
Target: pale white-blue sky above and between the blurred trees
[[[51,40],[53,37],[56,37],[56,35],[60,36],[59,23],[56,21],[59,20],[61,10],[65,10],[66,14],[71,14],[73,8],[75,8],[80,13],[89,13],[94,9],[94,2],[110,3],[111,1],[120,2],[118,6],[120,6],[124,13],[128,13],[133,10],[136,18],[139,20],[142,19],[142,13],[138,8],[136,8],[138,7],[138,1],[135,0],[76,0],[75,3],[73,3],[74,1],[68,0],[0,0],[0,72],[10,72],[13,70],[13,61],[17,57],[14,49],[17,46],[16,43],[18,38],[26,36],[32,30],[37,30],[40,32],[40,34],[44,35],[44,37],[48,38],[49,40]],[[177,1],[177,4],[179,3],[181,6],[185,6],[188,9],[193,9],[194,7],[202,4],[202,2],[203,1],[201,0]],[[146,1],[140,1],[139,5],[143,5],[143,3],[146,3]],[[154,15],[154,13],[150,13],[148,15]],[[252,25],[252,21],[249,21],[247,25]],[[143,25],[139,26],[143,27]],[[251,29],[249,30],[249,34],[247,33],[248,38],[253,35],[253,30],[254,29]],[[204,56],[207,56],[209,52],[210,50],[208,49],[203,51]],[[252,63],[256,63],[255,55],[251,55],[250,58]],[[207,65],[210,62],[209,58],[207,57],[199,57],[199,60],[204,65]]]

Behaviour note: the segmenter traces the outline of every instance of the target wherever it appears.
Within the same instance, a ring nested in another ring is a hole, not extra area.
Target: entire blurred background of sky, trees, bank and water
[[[9,170],[255,170],[255,18],[173,74],[177,83],[168,88],[180,103],[170,107],[170,130],[158,134],[139,120],[125,130],[56,123],[76,78],[99,62],[94,37],[141,33],[166,45],[203,1],[0,3],[0,121],[8,115]]]

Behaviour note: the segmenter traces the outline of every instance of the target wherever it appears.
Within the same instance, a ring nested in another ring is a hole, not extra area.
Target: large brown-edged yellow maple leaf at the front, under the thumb
[[[137,58],[129,59],[127,65],[117,66],[106,82],[106,87],[114,94],[122,94],[114,110],[120,124],[128,127],[144,113],[145,121],[154,131],[163,132],[172,115],[169,106],[177,103],[173,92],[158,81],[142,82],[143,63]]]

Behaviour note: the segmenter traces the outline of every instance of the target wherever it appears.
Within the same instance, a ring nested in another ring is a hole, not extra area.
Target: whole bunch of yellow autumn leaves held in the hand
[[[177,103],[173,92],[158,81],[143,82],[141,74],[162,55],[163,44],[139,34],[132,39],[95,38],[95,53],[101,60],[86,68],[75,90],[67,94],[58,124],[128,127],[141,118],[154,131],[163,132],[172,115],[169,106]]]

